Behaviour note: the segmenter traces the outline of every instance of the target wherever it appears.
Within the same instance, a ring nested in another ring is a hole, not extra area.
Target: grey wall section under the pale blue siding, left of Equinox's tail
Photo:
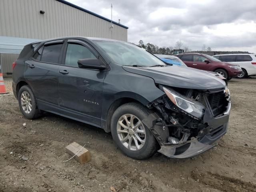
[[[12,72],[12,63],[18,58],[19,54],[0,54],[0,63],[3,74]]]

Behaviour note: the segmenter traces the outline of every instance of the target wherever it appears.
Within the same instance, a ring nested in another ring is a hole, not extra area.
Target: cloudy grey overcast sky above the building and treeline
[[[256,53],[256,0],[68,0],[128,26],[128,42],[139,40],[191,50]]]

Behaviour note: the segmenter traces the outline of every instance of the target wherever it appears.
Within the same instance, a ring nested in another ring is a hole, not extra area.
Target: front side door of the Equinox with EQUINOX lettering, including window
[[[68,40],[59,68],[58,104],[69,116],[101,124],[102,91],[106,71],[79,68],[77,61],[98,58],[91,46],[80,40]]]

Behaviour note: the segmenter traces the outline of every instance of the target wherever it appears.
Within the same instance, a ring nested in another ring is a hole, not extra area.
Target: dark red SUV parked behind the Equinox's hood
[[[238,64],[222,62],[210,55],[200,53],[183,53],[175,56],[180,58],[188,67],[213,71],[221,74],[228,80],[242,73],[242,69]]]

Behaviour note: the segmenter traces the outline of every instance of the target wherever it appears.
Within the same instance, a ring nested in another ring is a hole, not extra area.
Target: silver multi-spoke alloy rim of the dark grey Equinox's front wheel
[[[122,115],[116,126],[118,139],[129,150],[138,151],[146,142],[146,130],[141,120],[132,115]]]

